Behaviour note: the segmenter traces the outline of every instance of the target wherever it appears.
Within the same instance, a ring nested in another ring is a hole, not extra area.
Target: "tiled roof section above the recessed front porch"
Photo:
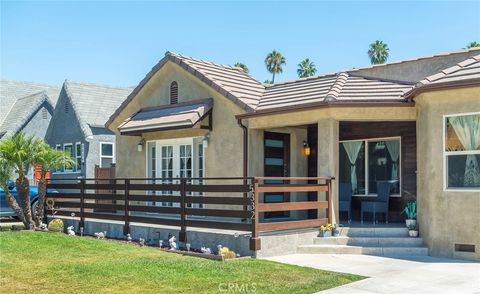
[[[268,86],[255,111],[329,102],[403,101],[411,83],[385,81],[341,72]]]

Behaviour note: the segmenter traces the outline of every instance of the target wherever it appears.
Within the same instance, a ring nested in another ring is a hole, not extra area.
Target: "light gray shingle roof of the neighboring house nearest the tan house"
[[[105,127],[108,117],[126,99],[133,88],[113,87],[66,80],[63,88],[73,105],[85,136],[91,127]]]

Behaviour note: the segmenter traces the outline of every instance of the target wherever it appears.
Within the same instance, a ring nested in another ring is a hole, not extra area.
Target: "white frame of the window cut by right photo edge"
[[[466,115],[475,115],[478,114],[480,115],[480,112],[464,112],[464,113],[454,113],[454,114],[445,114],[442,117],[442,156],[443,156],[443,191],[444,192],[480,192],[480,188],[449,188],[448,187],[448,171],[447,171],[447,157],[448,155],[469,155],[469,154],[478,154],[480,155],[480,150],[467,150],[467,151],[446,151],[446,119],[450,117],[456,117],[456,116],[466,116]],[[447,155],[448,154],[448,155]]]

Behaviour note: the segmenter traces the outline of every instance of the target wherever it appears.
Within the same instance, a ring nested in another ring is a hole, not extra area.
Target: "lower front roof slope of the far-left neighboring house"
[[[0,134],[3,133],[3,136],[16,134],[45,101],[53,109],[46,91],[17,99],[0,126]]]

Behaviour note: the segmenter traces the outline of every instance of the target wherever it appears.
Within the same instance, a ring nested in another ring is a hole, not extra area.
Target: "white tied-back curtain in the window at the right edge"
[[[449,121],[465,150],[477,150],[480,146],[480,115],[457,116]],[[467,155],[464,185],[480,185],[480,167],[475,155]]]

